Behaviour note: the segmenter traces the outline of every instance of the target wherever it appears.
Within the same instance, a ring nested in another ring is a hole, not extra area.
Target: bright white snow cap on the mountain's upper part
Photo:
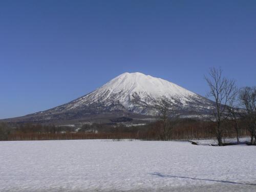
[[[134,94],[137,94],[143,101],[176,97],[183,104],[186,104],[190,97],[199,97],[199,95],[161,78],[139,72],[123,73],[94,92],[81,97],[75,104],[72,103],[69,109],[75,109],[84,103],[92,104],[99,101],[110,105],[113,100],[118,101],[126,108],[131,108]]]

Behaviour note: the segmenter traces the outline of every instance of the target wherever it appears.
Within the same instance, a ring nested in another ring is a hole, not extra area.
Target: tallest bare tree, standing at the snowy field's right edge
[[[211,68],[208,75],[208,77],[205,76],[210,89],[207,96],[213,98],[215,102],[215,107],[212,108],[214,119],[211,120],[215,122],[215,134],[219,146],[222,146],[222,137],[225,131],[222,122],[228,118],[227,104],[232,99],[235,81],[223,77],[221,68]]]

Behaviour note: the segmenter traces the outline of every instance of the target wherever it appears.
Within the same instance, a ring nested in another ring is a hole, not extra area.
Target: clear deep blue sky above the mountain
[[[205,95],[209,67],[256,85],[256,1],[0,1],[0,119],[124,72]]]

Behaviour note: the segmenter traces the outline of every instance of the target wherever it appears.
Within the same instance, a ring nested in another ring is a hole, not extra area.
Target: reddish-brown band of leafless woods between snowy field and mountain
[[[172,130],[168,140],[215,139],[215,123],[203,119],[177,118],[169,122]],[[233,121],[226,120],[224,138],[237,137]],[[245,120],[239,120],[239,136],[249,136]],[[61,139],[141,139],[166,140],[161,120],[140,126],[114,124],[84,124],[77,129],[73,126],[55,126],[32,123],[0,124],[0,140],[61,140]]]

